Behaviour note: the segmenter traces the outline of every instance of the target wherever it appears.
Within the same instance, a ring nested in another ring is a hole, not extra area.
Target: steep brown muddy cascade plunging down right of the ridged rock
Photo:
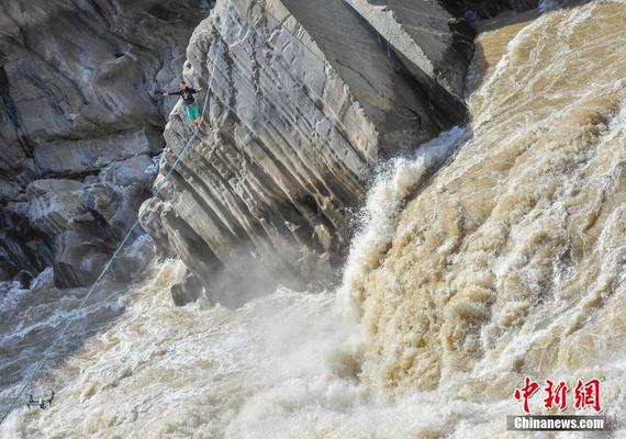
[[[368,384],[504,398],[526,375],[613,378],[599,371],[625,339],[625,18],[589,2],[479,37],[467,142],[348,292]]]

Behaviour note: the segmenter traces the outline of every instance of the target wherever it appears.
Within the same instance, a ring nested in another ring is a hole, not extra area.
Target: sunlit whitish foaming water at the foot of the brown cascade
[[[356,378],[355,328],[334,294],[281,289],[236,311],[172,308],[182,266],[153,270],[123,299],[123,318],[46,376],[57,403],[19,408],[0,437],[414,438],[484,415],[441,405],[447,391],[380,401]]]

